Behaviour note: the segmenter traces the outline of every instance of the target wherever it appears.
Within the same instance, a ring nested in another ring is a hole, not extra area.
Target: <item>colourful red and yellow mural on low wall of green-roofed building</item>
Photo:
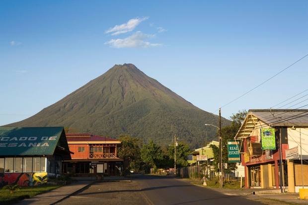
[[[8,184],[38,186],[47,183],[47,172],[39,173],[0,173],[0,187]]]

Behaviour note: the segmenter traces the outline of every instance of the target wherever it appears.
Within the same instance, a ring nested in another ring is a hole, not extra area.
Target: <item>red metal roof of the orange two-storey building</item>
[[[97,135],[91,135],[89,133],[81,133],[81,134],[66,134],[66,138],[69,141],[119,141],[117,139],[112,139],[108,137],[102,137]]]

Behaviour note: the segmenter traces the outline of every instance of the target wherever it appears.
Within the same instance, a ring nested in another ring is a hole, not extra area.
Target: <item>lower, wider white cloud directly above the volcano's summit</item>
[[[155,46],[162,46],[162,44],[152,44],[147,42],[147,39],[155,38],[155,35],[144,34],[137,31],[135,34],[125,39],[112,39],[105,44],[109,44],[114,48],[150,48]]]

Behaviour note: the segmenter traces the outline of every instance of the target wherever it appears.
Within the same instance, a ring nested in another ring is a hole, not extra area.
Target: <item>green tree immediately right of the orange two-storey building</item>
[[[142,140],[129,135],[120,135],[119,140],[122,146],[118,148],[118,156],[123,159],[123,174],[128,175],[130,170],[138,172],[142,164],[140,151]]]

